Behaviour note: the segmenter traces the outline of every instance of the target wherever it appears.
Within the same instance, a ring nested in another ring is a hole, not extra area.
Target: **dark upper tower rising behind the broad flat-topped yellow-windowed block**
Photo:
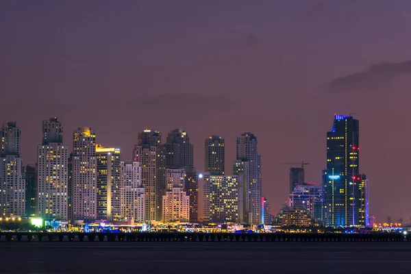
[[[225,173],[225,142],[220,136],[212,135],[206,138],[204,144],[205,167],[210,175]]]

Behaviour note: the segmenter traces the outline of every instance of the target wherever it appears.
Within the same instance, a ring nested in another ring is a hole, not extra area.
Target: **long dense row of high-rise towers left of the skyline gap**
[[[65,145],[62,123],[42,121],[37,163],[23,166],[21,129],[1,128],[0,218],[139,223],[262,222],[261,155],[256,136],[237,138],[232,174],[225,174],[225,141],[206,138],[205,170],[193,164],[193,146],[183,129],[166,142],[145,129],[123,160],[123,151],[103,147],[90,127],[73,132]],[[127,159],[127,158],[126,158]]]

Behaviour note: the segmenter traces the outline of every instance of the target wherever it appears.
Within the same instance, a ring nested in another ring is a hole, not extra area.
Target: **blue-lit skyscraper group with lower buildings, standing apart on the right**
[[[303,164],[303,163],[302,163]],[[305,182],[303,165],[290,169],[290,197],[277,214],[282,225],[312,221],[332,227],[369,227],[369,180],[360,173],[360,123],[334,115],[327,132],[327,169],[321,186]]]

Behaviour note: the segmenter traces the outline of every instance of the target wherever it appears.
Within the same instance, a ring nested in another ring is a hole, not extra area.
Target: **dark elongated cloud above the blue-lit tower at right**
[[[366,71],[337,77],[325,85],[331,90],[373,90],[392,86],[401,75],[411,74],[411,60],[405,62],[387,62],[370,66]]]

